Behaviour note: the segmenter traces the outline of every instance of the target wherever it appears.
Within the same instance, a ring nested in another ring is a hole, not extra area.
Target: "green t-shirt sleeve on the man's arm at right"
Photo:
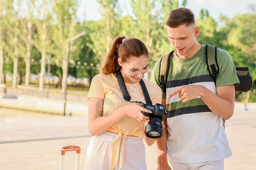
[[[222,50],[218,60],[219,73],[216,78],[216,87],[228,86],[235,84],[237,86],[240,82],[237,77],[236,67],[234,62],[226,50]]]

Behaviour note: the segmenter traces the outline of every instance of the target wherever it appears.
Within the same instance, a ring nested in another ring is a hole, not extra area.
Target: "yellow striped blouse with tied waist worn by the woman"
[[[162,101],[162,91],[158,85],[143,79],[148,94],[152,104],[161,103]],[[130,101],[142,101],[146,103],[144,95],[142,92],[141,84],[138,83],[125,83],[127,90],[131,96]],[[89,98],[99,98],[104,100],[104,106],[102,110],[102,117],[109,116],[118,108],[131,104],[129,101],[123,99],[122,92],[119,88],[117,78],[114,74],[98,74],[92,79],[90,86],[88,99]],[[115,123],[107,131],[117,133],[117,138],[113,142],[113,152],[112,152],[112,169],[115,167],[118,161],[119,155],[119,143],[121,135],[123,135],[122,146],[121,146],[121,158],[120,158],[120,167],[123,164],[124,156],[124,142],[127,135],[134,135],[139,138],[144,138],[144,122],[139,122],[133,117],[125,116],[122,120]]]

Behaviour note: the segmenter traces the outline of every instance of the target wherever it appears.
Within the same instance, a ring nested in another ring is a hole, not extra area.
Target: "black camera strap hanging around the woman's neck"
[[[117,82],[118,82],[119,87],[121,89],[123,99],[125,99],[126,101],[130,101],[131,96],[129,95],[129,92],[127,91],[127,87],[125,86],[125,82],[123,81],[123,76],[121,74],[121,71],[118,70],[116,72],[116,74],[117,74]],[[143,92],[143,95],[145,97],[146,103],[152,105],[152,101],[151,101],[150,96],[148,94],[147,87],[146,87],[145,83],[143,82],[142,79],[139,81],[139,83],[141,84],[142,92]]]

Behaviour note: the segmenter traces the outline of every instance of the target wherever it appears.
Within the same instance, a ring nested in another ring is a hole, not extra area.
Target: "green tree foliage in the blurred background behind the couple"
[[[28,4],[28,9],[31,11],[32,35],[34,35],[31,42],[31,74],[39,75],[42,54],[45,52],[46,61],[48,54],[51,54],[51,73],[59,76],[60,82],[63,74],[67,73],[65,57],[68,39],[81,32],[85,32],[85,35],[70,42],[68,75],[86,78],[90,82],[97,74],[97,68],[108,53],[114,38],[122,35],[127,38],[136,37],[144,42],[150,52],[149,68],[151,70],[156,60],[173,49],[164,25],[169,12],[174,8],[187,5],[185,0],[130,0],[126,5],[130,7],[133,15],[124,16],[123,11],[126,10],[123,10],[124,7],[118,0],[97,0],[101,7],[102,19],[79,21],[77,8],[81,0],[0,2],[3,74],[13,73],[13,61],[19,58],[18,74],[22,77],[25,75],[24,58],[28,50],[26,4]],[[200,17],[196,19],[197,26],[200,27],[200,36],[197,40],[201,44],[212,44],[227,50],[236,66],[249,67],[255,82],[256,16],[255,6],[251,5],[250,8],[251,13],[233,18],[220,15],[218,22],[209,15],[207,10],[201,9]],[[256,83],[253,84],[250,92],[250,102],[256,101],[255,89]],[[246,94],[236,94],[236,97],[244,101]]]

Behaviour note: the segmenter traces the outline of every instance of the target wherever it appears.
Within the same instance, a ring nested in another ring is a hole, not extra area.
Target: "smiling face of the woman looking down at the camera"
[[[146,55],[131,56],[127,62],[122,62],[121,58],[118,58],[118,63],[122,67],[121,73],[126,83],[138,83],[148,70],[148,57]]]

